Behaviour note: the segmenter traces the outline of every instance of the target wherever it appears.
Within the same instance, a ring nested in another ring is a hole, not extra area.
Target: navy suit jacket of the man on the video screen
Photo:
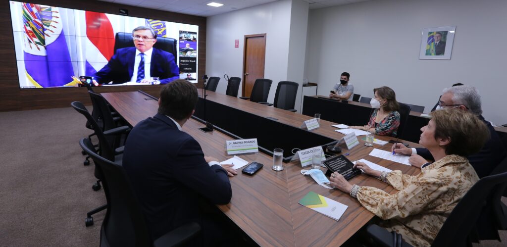
[[[111,60],[100,69],[93,79],[100,84],[113,82],[121,84],[129,82],[134,72],[135,47],[118,49]],[[166,84],[179,78],[179,68],[174,56],[166,51],[152,48],[150,75],[160,78],[160,84]]]

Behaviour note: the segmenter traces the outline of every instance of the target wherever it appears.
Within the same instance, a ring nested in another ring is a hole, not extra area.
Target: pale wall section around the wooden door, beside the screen
[[[291,0],[281,0],[207,18],[206,75],[222,78],[216,92],[226,92],[224,74],[243,78],[244,36],[266,33],[264,78],[273,80],[268,98],[273,102],[277,83],[287,79],[291,5]],[[239,48],[234,48],[234,40],[239,40]]]

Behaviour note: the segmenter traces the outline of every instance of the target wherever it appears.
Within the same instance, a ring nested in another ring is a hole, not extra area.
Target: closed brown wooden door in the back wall
[[[264,78],[266,33],[245,35],[243,51],[243,96],[250,97],[253,83]]]

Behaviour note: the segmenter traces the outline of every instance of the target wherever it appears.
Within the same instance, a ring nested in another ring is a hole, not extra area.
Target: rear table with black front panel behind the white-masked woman
[[[372,107],[369,103],[355,101],[342,101],[328,96],[304,96],[303,113],[307,116],[320,114],[321,119],[332,122],[340,122],[350,126],[363,126],[370,120]],[[427,114],[411,111],[408,121],[405,124],[405,130],[400,138],[411,142],[418,142],[421,128],[428,124],[429,116]],[[507,133],[507,127],[494,127],[499,136]]]

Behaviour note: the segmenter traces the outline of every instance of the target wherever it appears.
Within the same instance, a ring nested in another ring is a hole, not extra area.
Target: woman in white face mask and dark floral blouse
[[[396,94],[390,87],[380,87],[373,89],[375,98],[372,98],[370,104],[375,110],[370,116],[370,121],[365,126],[351,126],[353,129],[362,129],[366,131],[375,130],[378,135],[396,136],[396,131],[400,126],[400,104],[396,101]]]

